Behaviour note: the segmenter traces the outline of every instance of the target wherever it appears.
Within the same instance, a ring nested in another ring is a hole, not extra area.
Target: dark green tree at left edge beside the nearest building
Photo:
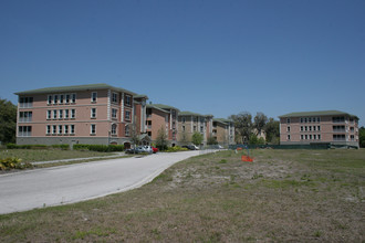
[[[0,98],[0,142],[15,142],[17,106]]]

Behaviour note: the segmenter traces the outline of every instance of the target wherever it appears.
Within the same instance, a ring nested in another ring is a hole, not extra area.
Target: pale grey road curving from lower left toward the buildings
[[[0,176],[0,214],[73,203],[140,187],[199,151],[157,154]]]

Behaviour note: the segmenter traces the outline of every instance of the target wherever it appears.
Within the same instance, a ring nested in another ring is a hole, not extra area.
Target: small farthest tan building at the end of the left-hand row
[[[233,122],[225,118],[213,118],[211,136],[219,145],[228,146],[234,144]]]

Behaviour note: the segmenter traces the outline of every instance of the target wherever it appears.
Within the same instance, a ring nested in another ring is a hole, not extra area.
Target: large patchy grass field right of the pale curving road
[[[0,242],[364,242],[365,150],[234,151],[124,193],[0,215]]]

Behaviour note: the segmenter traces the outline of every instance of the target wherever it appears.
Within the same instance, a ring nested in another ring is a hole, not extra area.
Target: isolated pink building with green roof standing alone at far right
[[[290,113],[279,116],[280,144],[327,142],[358,147],[358,117],[338,110]]]

